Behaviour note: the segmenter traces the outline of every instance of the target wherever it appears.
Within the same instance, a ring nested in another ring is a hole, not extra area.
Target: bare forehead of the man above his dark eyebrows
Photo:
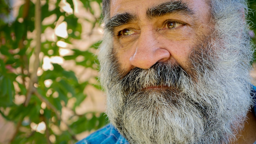
[[[208,13],[210,11],[206,0],[110,0],[110,17],[120,13],[133,13],[143,15],[151,7],[168,1],[181,1],[186,3],[197,13]],[[200,16],[203,16],[199,14]]]

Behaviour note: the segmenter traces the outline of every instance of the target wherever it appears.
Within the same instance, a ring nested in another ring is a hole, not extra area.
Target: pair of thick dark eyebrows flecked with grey
[[[148,8],[146,16],[149,19],[168,15],[173,12],[180,12],[182,15],[193,15],[194,12],[191,10],[187,3],[178,1],[168,1],[152,8]],[[105,23],[105,29],[113,34],[114,28],[125,25],[131,21],[138,20],[138,17],[131,13],[119,13],[108,20]]]

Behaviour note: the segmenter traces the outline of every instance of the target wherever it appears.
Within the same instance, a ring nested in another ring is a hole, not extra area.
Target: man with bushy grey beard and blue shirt
[[[103,0],[110,125],[79,143],[254,143],[246,4]]]

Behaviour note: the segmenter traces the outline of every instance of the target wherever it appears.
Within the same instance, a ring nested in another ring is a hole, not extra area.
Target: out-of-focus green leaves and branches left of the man
[[[97,49],[100,42],[92,44],[89,48],[79,49],[74,45],[74,41],[81,39],[83,29],[88,29],[83,28],[79,20],[91,23],[90,29],[99,25],[100,15],[94,15],[95,11],[91,4],[99,5],[101,0],[81,1],[94,19],[78,18],[74,12],[63,10],[63,4],[66,4],[65,6],[74,11],[73,2],[72,0],[46,0],[44,3],[42,1],[40,22],[50,17],[56,18],[50,23],[41,25],[41,43],[36,43],[35,32],[38,29],[35,29],[35,10],[40,10],[35,7],[35,1],[26,0],[20,6],[17,18],[8,21],[12,9],[5,0],[0,0],[0,113],[16,126],[15,134],[8,143],[70,144],[77,141],[76,134],[98,129],[107,124],[108,120],[104,113],[97,111],[83,115],[76,113],[76,108],[87,96],[83,92],[84,88],[94,86],[101,89],[101,87],[98,83],[90,82],[89,79],[81,81],[74,70],[66,69],[61,63],[79,58],[80,60],[75,61],[73,67],[82,66],[95,72],[98,69],[94,64],[97,63],[97,59],[92,51]],[[60,24],[59,21],[67,23],[67,37],[52,34],[52,39],[44,38],[49,29],[52,31],[56,29]],[[71,53],[63,56],[58,42],[68,45],[65,50],[68,49]],[[36,55],[38,50],[36,45],[41,47],[39,55]],[[72,48],[68,48],[69,46]],[[59,58],[59,62],[51,61],[48,64],[49,68],[44,68],[47,58]],[[90,79],[97,81],[95,76]],[[68,107],[71,99],[75,99],[75,102]],[[69,108],[72,112],[67,120],[63,120],[62,117],[63,107]],[[38,130],[40,125],[45,125],[46,129]]]

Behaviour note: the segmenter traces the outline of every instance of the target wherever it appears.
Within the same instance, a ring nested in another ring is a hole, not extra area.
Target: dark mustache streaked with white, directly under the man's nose
[[[178,88],[182,75],[187,73],[171,63],[160,62],[149,69],[135,67],[120,80],[121,91],[129,94],[154,86]]]

